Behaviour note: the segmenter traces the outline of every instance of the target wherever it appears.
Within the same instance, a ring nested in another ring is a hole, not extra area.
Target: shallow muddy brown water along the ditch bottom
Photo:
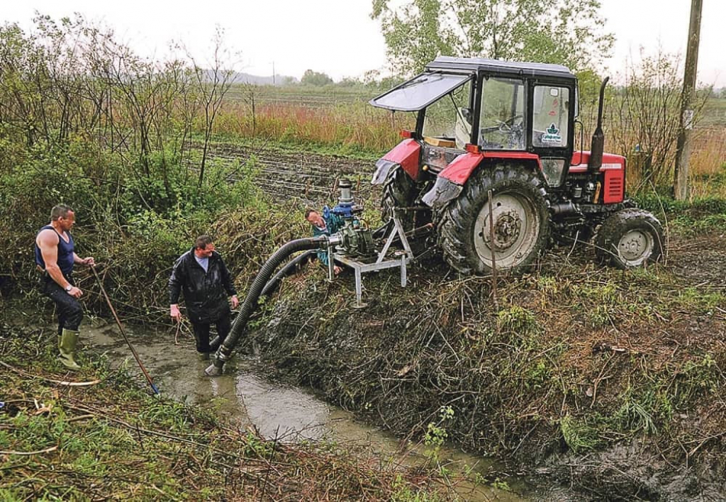
[[[223,376],[204,375],[208,362],[197,360],[189,335],[145,331],[126,327],[144,367],[162,394],[188,403],[211,407],[240,428],[255,427],[264,437],[283,441],[330,440],[346,445],[361,456],[376,456],[381,461],[402,465],[421,465],[427,461],[423,445],[401,445],[391,434],[359,423],[351,413],[319,400],[308,389],[275,382],[251,356],[235,356],[225,366]],[[105,354],[113,368],[127,365],[139,373],[126,342],[115,325],[86,328],[86,347]],[[143,377],[142,377],[143,378]],[[454,448],[439,453],[441,463],[452,471],[471,469],[484,476],[497,466],[492,459],[472,456]],[[513,491],[461,484],[456,490],[467,501],[523,501],[537,495],[521,479],[507,478]]]

